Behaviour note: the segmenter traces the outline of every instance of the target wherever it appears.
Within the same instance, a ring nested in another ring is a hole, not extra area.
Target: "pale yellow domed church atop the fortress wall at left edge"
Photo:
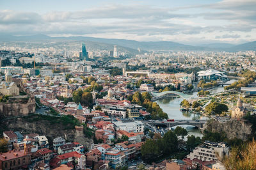
[[[19,96],[20,90],[12,81],[12,73],[8,70],[5,74],[5,81],[0,84],[0,95]]]

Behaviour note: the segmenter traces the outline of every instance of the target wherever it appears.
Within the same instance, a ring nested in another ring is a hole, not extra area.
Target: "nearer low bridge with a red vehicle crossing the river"
[[[191,125],[194,127],[202,128],[204,123],[206,123],[207,120],[175,120],[175,121],[148,121],[149,125],[152,126],[166,126],[166,127],[175,127],[179,125]]]

